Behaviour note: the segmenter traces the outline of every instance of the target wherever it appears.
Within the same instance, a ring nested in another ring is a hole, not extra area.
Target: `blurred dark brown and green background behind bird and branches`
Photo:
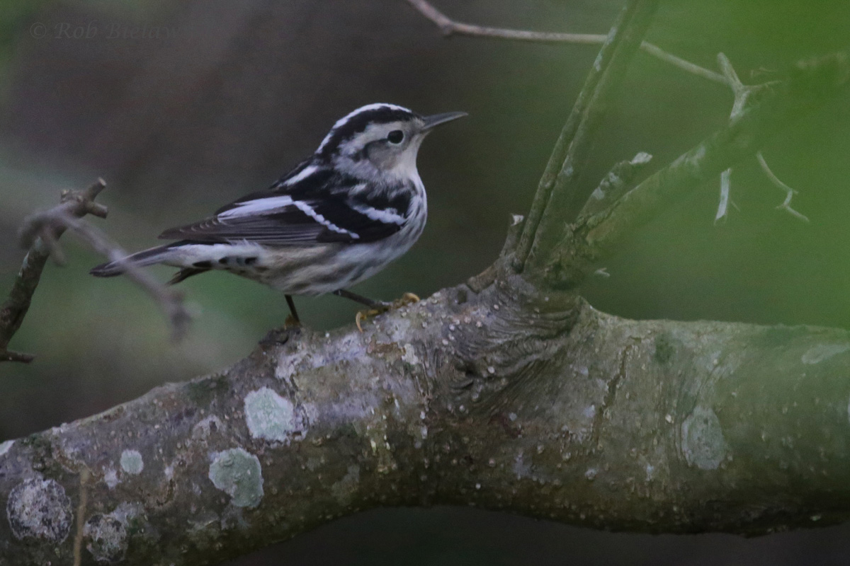
[[[458,20],[606,33],[622,0],[474,0],[435,4]],[[648,39],[716,69],[723,51],[747,81],[848,47],[846,0],[670,0]],[[392,102],[469,118],[424,144],[430,218],[403,259],[355,289],[427,296],[489,265],[509,213],[536,182],[595,46],[445,39],[403,0],[3,0],[0,3],[0,295],[20,267],[20,221],[63,188],[104,177],[107,220],[126,249],[267,187],[314,150],[337,118]],[[589,193],[618,160],[651,169],[728,119],[732,94],[640,53],[595,143]],[[799,190],[805,223],[775,210],[784,193],[747,160],[733,210],[713,223],[719,182],[643,227],[588,281],[593,305],[623,317],[850,327],[850,104],[836,101],[765,148]],[[224,273],[183,284],[197,314],[169,342],[160,312],[100,259],[65,238],[10,345],[37,355],[0,365],[0,440],[129,401],[157,384],[225,367],[286,317],[283,297]],[[156,271],[169,277],[169,270]],[[297,299],[314,328],[352,322],[337,297]],[[345,518],[240,564],[844,564],[850,529],[744,540],[612,535],[471,509],[376,510]]]

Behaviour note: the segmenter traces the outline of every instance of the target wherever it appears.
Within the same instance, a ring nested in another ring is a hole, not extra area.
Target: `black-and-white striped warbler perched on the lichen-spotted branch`
[[[144,249],[91,269],[95,277],[134,266],[178,267],[168,282],[224,271],[281,291],[293,322],[293,295],[336,294],[369,308],[394,303],[348,290],[404,255],[428,218],[416,154],[433,128],[465,112],[419,115],[396,104],[366,104],[331,127],[318,149],[269,188],[247,194],[212,216],[167,229],[171,244]],[[416,295],[405,294],[411,300]]]

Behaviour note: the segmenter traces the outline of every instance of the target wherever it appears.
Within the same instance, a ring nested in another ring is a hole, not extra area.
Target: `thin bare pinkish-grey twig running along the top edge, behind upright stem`
[[[526,30],[507,30],[497,27],[486,27],[483,25],[464,24],[462,22],[451,20],[448,16],[440,12],[433,4],[427,0],[407,0],[413,8],[416,8],[420,14],[431,20],[434,25],[439,27],[445,36],[458,34],[462,36],[479,36],[479,37],[495,37],[497,39],[508,39],[520,42],[546,42],[546,43],[571,43],[576,45],[599,45],[604,43],[608,36],[596,33],[559,33],[552,31],[526,31]],[[720,75],[713,70],[708,70],[700,67],[698,64],[691,63],[681,57],[677,57],[672,53],[666,52],[664,49],[649,42],[642,42],[640,48],[644,53],[648,53],[657,59],[661,59],[666,63],[676,65],[679,69],[685,70],[697,76],[701,76],[709,81],[725,84],[726,80],[723,75]]]

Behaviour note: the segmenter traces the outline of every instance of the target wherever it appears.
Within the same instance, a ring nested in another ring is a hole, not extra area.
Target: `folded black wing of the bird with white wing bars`
[[[160,238],[269,245],[374,242],[407,221],[409,193],[389,199],[358,191],[354,177],[317,165],[298,165],[269,190],[252,193],[214,216],[171,228]]]

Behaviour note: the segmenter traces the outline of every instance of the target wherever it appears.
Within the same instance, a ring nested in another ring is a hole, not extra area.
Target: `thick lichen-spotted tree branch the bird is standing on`
[[[82,497],[83,563],[145,566],[380,506],[649,532],[850,516],[850,334],[627,321],[518,289],[273,333],[222,373],[0,446],[0,558],[70,564]]]

